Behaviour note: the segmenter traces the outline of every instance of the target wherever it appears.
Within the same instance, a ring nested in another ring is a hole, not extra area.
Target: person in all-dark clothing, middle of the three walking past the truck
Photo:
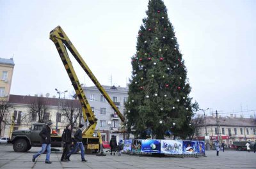
[[[68,124],[66,128],[64,129],[62,136],[61,136],[62,142],[63,142],[63,152],[60,161],[70,161],[68,156],[68,152],[70,150],[70,146],[72,144],[72,136],[71,136],[71,125]]]

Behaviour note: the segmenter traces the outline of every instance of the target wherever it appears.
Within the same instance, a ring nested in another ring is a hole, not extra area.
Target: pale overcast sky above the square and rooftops
[[[200,108],[239,114],[242,106],[244,115],[256,113],[256,1],[164,3],[188,68],[190,96]],[[125,87],[147,4],[147,0],[0,0],[0,57],[13,57],[15,62],[11,94],[52,96],[55,88],[74,91],[49,40],[56,26],[63,28],[100,84],[111,85],[112,75],[112,84]],[[81,84],[93,85],[72,63]]]

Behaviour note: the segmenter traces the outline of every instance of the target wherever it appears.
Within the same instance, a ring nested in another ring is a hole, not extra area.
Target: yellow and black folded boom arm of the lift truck
[[[97,125],[97,118],[95,117],[92,108],[90,107],[90,104],[88,103],[88,100],[86,99],[86,96],[84,94],[83,88],[81,87],[79,80],[77,78],[76,72],[72,66],[72,62],[70,61],[70,58],[68,57],[67,49],[71,52],[71,54],[75,57],[76,61],[79,62],[80,66],[83,68],[83,70],[86,72],[88,77],[92,80],[92,82],[96,85],[96,87],[99,89],[101,94],[106,98],[109,105],[115,110],[118,117],[120,117],[122,122],[125,122],[124,116],[121,114],[121,112],[116,107],[115,103],[109,98],[108,93],[104,90],[102,85],[100,85],[97,78],[93,75],[90,68],[87,66],[87,64],[84,62],[81,55],[77,52],[76,48],[72,44],[72,42],[68,39],[68,36],[64,33],[63,29],[61,29],[60,26],[53,29],[50,33],[50,39],[54,42],[58,53],[61,57],[61,61],[63,62],[65,69],[68,73],[68,77],[70,78],[72,85],[76,91],[76,94],[79,98],[79,101],[81,102],[82,110],[83,110],[83,117],[84,121],[88,120],[89,126],[88,128],[84,129],[83,135],[85,136],[92,136],[93,131],[95,130],[95,127]]]

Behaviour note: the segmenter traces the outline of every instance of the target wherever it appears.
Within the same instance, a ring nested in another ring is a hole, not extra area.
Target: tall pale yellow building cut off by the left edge
[[[14,65],[13,59],[0,58],[0,98],[7,101],[12,85]]]

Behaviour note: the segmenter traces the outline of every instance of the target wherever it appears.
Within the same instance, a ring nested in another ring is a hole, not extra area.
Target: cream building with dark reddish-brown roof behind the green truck
[[[58,120],[58,133],[62,133],[65,126],[69,123],[67,116],[64,114],[64,110],[68,111],[68,105],[80,105],[79,101],[75,99],[58,99],[58,98],[45,98],[38,96],[20,96],[10,94],[9,103],[11,107],[8,110],[8,114],[4,117],[3,128],[1,136],[10,137],[11,135],[11,123],[12,116],[14,116],[13,130],[17,129],[29,129],[31,124],[38,122],[39,115],[35,112],[31,112],[33,107],[44,107],[45,114],[42,120],[45,122],[52,121],[52,129],[56,129],[56,121]],[[65,103],[65,104],[64,104]],[[74,104],[73,104],[74,103]],[[79,107],[74,107],[74,115],[79,114]],[[57,117],[58,116],[58,117]],[[75,116],[74,116],[75,117]],[[81,122],[81,118],[77,117],[75,127]]]

